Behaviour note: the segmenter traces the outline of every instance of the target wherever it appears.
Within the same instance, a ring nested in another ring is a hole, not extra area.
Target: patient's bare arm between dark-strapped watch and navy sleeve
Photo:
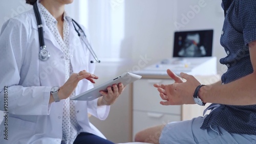
[[[253,73],[224,85],[203,86],[199,95],[204,102],[227,105],[256,104],[256,41],[249,43]]]

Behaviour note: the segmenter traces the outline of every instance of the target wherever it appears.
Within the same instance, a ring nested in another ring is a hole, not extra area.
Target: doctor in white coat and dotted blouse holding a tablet
[[[98,79],[90,63],[94,57],[65,12],[73,0],[26,2],[37,4],[50,58],[38,57],[41,26],[33,9],[5,22],[0,35],[0,110],[8,117],[0,125],[0,143],[113,143],[89,122],[88,113],[105,119],[123,85],[108,87],[94,101],[69,99],[93,88]]]

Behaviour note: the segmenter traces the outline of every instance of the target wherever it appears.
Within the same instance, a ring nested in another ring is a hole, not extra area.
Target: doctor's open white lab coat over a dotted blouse
[[[4,109],[4,86],[8,88],[8,140],[3,134],[4,121],[0,125],[0,143],[60,143],[62,138],[63,100],[49,103],[52,86],[65,83],[65,55],[46,26],[44,40],[51,57],[38,59],[39,40],[33,9],[8,20],[0,36],[0,110]],[[87,33],[86,33],[87,34]],[[87,34],[88,35],[88,34]],[[70,58],[74,73],[85,69],[94,73],[94,60],[70,23]],[[91,89],[93,84],[81,80],[75,94]],[[104,137],[88,119],[88,112],[105,119],[110,106],[97,108],[94,101],[75,101],[76,118],[83,132]],[[105,137],[104,137],[105,138]]]

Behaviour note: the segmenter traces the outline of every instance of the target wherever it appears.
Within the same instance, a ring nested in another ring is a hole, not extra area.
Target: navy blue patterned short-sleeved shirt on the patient
[[[256,0],[223,0],[222,7],[225,20],[220,42],[227,56],[220,63],[228,69],[221,80],[227,84],[253,72],[248,43],[256,40]],[[230,133],[256,135],[256,105],[221,105],[210,112],[201,128],[210,125]]]

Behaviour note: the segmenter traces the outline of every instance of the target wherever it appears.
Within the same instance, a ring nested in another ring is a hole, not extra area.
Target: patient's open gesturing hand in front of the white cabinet
[[[195,77],[191,75],[187,75],[185,73],[181,73],[178,77],[172,71],[167,69],[167,74],[170,78],[174,79],[174,84],[154,84],[157,90],[160,93],[160,97],[162,100],[161,105],[182,105],[182,104],[195,104],[193,99],[193,94],[200,82],[195,79]],[[183,82],[183,79],[186,82]]]

